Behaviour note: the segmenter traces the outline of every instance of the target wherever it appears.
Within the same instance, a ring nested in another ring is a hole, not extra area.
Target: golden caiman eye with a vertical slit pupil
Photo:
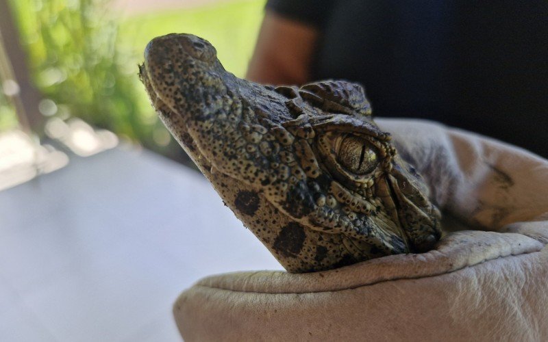
[[[335,152],[340,166],[353,174],[368,174],[379,164],[375,146],[356,135],[341,137],[336,142]]]

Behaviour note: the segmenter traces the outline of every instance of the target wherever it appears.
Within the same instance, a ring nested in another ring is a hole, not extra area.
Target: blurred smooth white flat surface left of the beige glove
[[[203,276],[282,269],[197,172],[116,148],[0,192],[0,341],[179,341]]]

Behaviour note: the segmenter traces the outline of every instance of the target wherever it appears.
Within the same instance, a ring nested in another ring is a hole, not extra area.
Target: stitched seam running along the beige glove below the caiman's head
[[[217,289],[217,290],[223,290],[223,291],[230,291],[230,292],[234,292],[234,293],[258,293],[258,294],[264,294],[264,295],[280,295],[280,294],[287,294],[287,295],[290,295],[290,294],[297,294],[297,295],[301,295],[301,294],[306,294],[306,293],[329,293],[329,292],[340,292],[340,291],[347,291],[347,290],[353,290],[353,289],[360,289],[362,287],[369,287],[369,286],[372,286],[372,285],[377,285],[377,284],[380,284],[382,282],[391,282],[391,281],[397,281],[397,280],[418,280],[418,279],[425,279],[425,278],[434,278],[434,277],[437,277],[437,276],[443,276],[445,274],[451,274],[453,272],[458,272],[462,269],[466,269],[466,268],[471,268],[471,267],[475,267],[477,265],[482,265],[484,263],[488,263],[490,261],[496,261],[496,260],[499,260],[499,259],[506,259],[506,258],[510,258],[510,257],[519,257],[521,255],[528,255],[528,254],[534,254],[534,253],[541,253],[542,250],[540,251],[535,251],[535,252],[524,252],[524,253],[521,253],[521,254],[510,254],[510,255],[506,255],[505,257],[498,257],[498,258],[495,258],[495,259],[489,259],[489,260],[486,260],[486,261],[482,261],[480,263],[475,263],[474,265],[465,265],[464,267],[460,267],[460,268],[457,268],[457,269],[452,269],[451,271],[449,272],[440,272],[440,273],[437,273],[437,274],[429,274],[428,276],[417,276],[417,277],[399,277],[399,278],[393,278],[393,279],[386,279],[386,280],[379,280],[379,281],[376,281],[376,282],[370,282],[368,284],[363,284],[363,285],[356,285],[354,287],[346,287],[345,289],[335,289],[335,290],[327,290],[327,291],[306,291],[306,292],[258,292],[258,291],[240,291],[240,290],[234,290],[234,289],[226,289],[226,288],[223,288],[223,287],[211,287],[209,285],[203,285],[203,284],[196,284],[194,285],[193,287],[206,287],[208,289]]]

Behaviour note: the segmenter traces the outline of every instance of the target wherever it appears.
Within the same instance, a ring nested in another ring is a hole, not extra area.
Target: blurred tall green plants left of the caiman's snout
[[[116,47],[105,0],[12,1],[31,74],[58,115],[77,116],[129,137],[147,136],[136,113],[135,72]]]

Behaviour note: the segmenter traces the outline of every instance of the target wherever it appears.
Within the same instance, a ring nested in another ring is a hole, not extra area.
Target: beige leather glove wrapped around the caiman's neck
[[[203,279],[174,306],[186,341],[548,341],[548,161],[433,122],[378,122],[455,232],[424,254]]]

